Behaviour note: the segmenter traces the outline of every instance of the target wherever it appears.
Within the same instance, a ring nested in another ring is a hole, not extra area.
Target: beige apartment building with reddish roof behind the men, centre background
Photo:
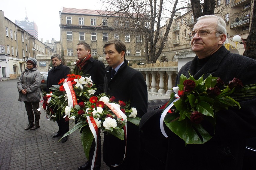
[[[129,22],[111,16],[111,11],[63,8],[59,11],[60,44],[65,56],[76,56],[79,42],[91,47],[94,57],[103,57],[104,44],[111,39],[120,39],[126,45],[126,59],[130,63],[145,62],[142,34],[134,34]]]

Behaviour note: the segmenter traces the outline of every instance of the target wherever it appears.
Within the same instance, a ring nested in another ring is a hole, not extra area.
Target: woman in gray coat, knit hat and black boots
[[[25,108],[29,118],[29,125],[24,130],[35,130],[39,128],[40,111],[40,82],[41,75],[40,71],[37,70],[37,61],[34,58],[28,58],[26,60],[27,67],[21,72],[17,88],[20,93],[19,101],[25,103]],[[34,111],[34,113],[33,113]],[[34,114],[35,114],[35,125],[34,125]]]

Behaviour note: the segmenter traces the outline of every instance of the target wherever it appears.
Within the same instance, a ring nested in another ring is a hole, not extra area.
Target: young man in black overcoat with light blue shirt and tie
[[[147,111],[148,93],[143,75],[128,66],[125,59],[126,47],[120,40],[110,40],[105,43],[105,58],[108,62],[104,78],[104,92],[114,96],[115,101],[131,102],[131,107],[137,109],[138,117]],[[111,75],[112,73],[112,75]],[[110,169],[139,169],[139,129],[138,126],[127,123],[127,149],[124,157],[125,140],[105,132],[103,144],[103,160]],[[117,166],[118,165],[118,166]]]

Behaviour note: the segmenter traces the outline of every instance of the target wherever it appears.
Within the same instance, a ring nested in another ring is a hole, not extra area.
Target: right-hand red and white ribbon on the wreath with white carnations
[[[120,110],[120,108],[118,108],[116,106],[116,104],[114,103],[107,103],[105,104],[108,106],[108,108],[111,109],[111,111],[118,117],[118,118],[122,118],[122,120],[125,118],[125,114]],[[126,145],[127,145],[127,124],[125,126],[123,126],[123,130],[124,130],[124,137],[125,137],[125,148],[124,148],[124,156],[123,159],[125,158],[126,155]],[[113,167],[118,166],[117,164],[115,165],[111,165]]]

